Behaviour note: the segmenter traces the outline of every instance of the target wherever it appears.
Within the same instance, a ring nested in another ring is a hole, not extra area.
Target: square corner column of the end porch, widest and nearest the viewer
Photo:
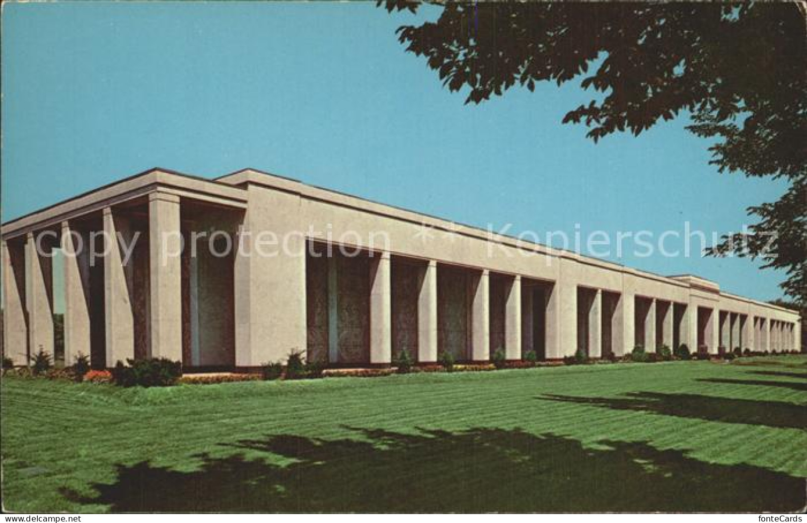
[[[151,355],[182,362],[182,232],[179,197],[148,195]]]

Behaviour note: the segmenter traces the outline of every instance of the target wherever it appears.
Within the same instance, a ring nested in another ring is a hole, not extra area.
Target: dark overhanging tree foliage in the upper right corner
[[[638,135],[686,111],[688,129],[710,140],[721,173],[785,178],[779,201],[748,209],[756,224],[709,253],[762,257],[763,266],[787,272],[788,295],[807,301],[803,4],[433,3],[443,6],[439,18],[399,27],[399,40],[449,90],[465,90],[466,103],[579,79],[596,99],[571,108],[563,123],[585,124],[592,140]],[[421,2],[378,4],[415,13]]]

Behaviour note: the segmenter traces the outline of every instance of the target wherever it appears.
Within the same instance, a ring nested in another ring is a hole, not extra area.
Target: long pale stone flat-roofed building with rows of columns
[[[110,238],[115,240],[110,241]],[[52,253],[63,274],[53,278]],[[65,362],[260,366],[304,350],[386,366],[403,349],[483,362],[686,344],[801,349],[797,312],[245,169],[216,180],[152,169],[2,225],[3,341]]]

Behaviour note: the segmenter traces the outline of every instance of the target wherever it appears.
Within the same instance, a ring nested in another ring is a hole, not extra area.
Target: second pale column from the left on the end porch
[[[48,241],[39,242],[49,249]],[[37,252],[37,238],[28,232],[25,245],[25,282],[28,308],[28,349],[31,356],[41,350],[53,357],[53,258]]]

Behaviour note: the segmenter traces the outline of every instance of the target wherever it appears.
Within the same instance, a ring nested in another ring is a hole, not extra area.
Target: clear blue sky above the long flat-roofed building
[[[784,190],[717,174],[684,119],[593,144],[560,123],[591,98],[576,85],[466,106],[398,43],[395,28],[418,19],[374,2],[6,3],[2,15],[4,221],[153,166],[249,166],[514,233],[658,235],[685,220],[727,232]],[[610,259],[781,294],[782,275],[748,260]]]

